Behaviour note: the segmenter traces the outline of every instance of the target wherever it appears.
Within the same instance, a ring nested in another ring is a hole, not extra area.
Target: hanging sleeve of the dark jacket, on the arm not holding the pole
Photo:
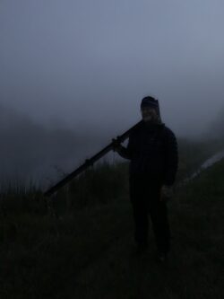
[[[165,139],[165,176],[164,185],[174,184],[178,168],[178,149],[177,138],[174,133],[168,129]]]

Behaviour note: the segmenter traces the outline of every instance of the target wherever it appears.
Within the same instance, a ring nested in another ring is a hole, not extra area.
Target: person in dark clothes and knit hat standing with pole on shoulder
[[[160,120],[159,101],[151,96],[142,99],[142,124],[129,136],[125,148],[115,151],[129,159],[129,189],[134,212],[137,252],[148,247],[148,215],[157,245],[157,258],[163,261],[170,249],[167,200],[173,192],[177,173],[177,139]]]

